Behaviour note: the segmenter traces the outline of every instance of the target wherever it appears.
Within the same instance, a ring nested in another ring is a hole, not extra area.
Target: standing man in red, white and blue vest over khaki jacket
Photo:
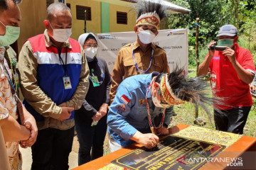
[[[19,55],[23,103],[38,125],[31,169],[68,170],[74,110],[81,107],[89,89],[89,69],[81,45],[70,38],[68,6],[50,4],[44,25],[45,32],[29,38]]]

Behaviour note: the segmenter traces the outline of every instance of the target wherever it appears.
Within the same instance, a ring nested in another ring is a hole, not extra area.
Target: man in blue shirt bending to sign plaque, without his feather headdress
[[[153,120],[156,115],[163,113],[164,108],[171,106],[165,102],[161,95],[160,82],[164,75],[166,74],[159,74],[158,72],[139,74],[128,77],[119,84],[117,94],[107,115],[111,152],[127,147],[134,142],[138,142],[148,149],[157,145],[159,137],[151,133],[146,98],[154,125]],[[156,132],[167,135],[170,119],[171,113],[166,112],[163,126],[158,128]]]

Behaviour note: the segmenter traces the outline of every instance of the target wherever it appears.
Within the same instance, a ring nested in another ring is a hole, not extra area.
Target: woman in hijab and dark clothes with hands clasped
[[[107,106],[110,104],[111,77],[107,63],[97,54],[97,39],[93,33],[78,38],[90,69],[90,87],[82,107],[75,111],[75,130],[80,144],[78,165],[103,156],[107,132]],[[92,150],[92,152],[91,152]]]

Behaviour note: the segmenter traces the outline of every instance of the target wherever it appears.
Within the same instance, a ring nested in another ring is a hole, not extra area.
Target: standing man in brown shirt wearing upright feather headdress
[[[111,103],[123,79],[137,74],[170,72],[166,52],[152,43],[159,33],[161,18],[166,16],[164,6],[150,1],[141,1],[138,5],[138,16],[134,26],[137,41],[125,45],[118,52],[112,72]]]

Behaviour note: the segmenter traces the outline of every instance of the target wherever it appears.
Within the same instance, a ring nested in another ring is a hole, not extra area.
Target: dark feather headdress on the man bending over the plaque
[[[176,67],[169,74],[161,73],[156,79],[159,78],[161,79],[161,94],[164,97],[164,101],[169,105],[178,105],[188,101],[196,104],[196,106],[201,106],[209,118],[211,116],[208,106],[213,105],[217,110],[221,110],[221,108],[218,108],[216,103],[226,106],[223,98],[218,98],[214,95],[215,91],[210,88],[210,84],[203,81],[202,77],[186,78],[186,75],[183,74],[183,68],[178,69]]]

